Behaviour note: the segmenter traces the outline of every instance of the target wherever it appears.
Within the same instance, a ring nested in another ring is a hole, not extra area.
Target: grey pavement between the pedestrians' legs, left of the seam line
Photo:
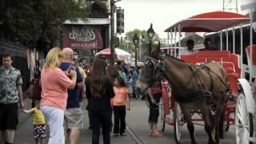
[[[29,102],[28,102],[29,103]],[[82,134],[80,135],[80,139],[78,144],[90,144],[91,143],[91,130],[88,130],[88,114],[87,110],[85,110],[85,106],[82,105],[82,110],[84,114],[84,129],[82,130]],[[32,118],[27,115],[20,113],[19,115],[20,122],[26,120],[25,122],[20,123],[18,126],[18,130],[15,134],[15,144],[33,144],[33,128],[32,128]],[[111,134],[112,135],[112,134]],[[100,136],[101,143],[102,143],[102,135]],[[47,143],[47,142],[46,142]],[[130,136],[127,131],[126,136],[118,136],[113,137],[111,136],[111,144],[135,144],[134,139]]]

